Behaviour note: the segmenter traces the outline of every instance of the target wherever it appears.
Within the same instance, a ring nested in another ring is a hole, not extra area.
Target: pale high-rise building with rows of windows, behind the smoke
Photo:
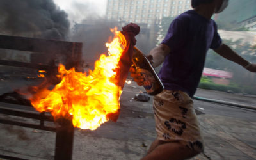
[[[190,9],[191,0],[108,0],[106,18],[154,24],[163,17],[174,17]]]

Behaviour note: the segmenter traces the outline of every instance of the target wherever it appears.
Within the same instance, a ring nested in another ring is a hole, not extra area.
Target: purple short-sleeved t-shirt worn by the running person
[[[175,18],[161,42],[171,49],[159,71],[164,89],[181,90],[193,97],[208,49],[217,49],[221,43],[214,20],[198,15],[195,10]]]

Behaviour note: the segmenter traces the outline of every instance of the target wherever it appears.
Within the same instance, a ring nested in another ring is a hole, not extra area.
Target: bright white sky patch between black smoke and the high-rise
[[[104,16],[107,0],[54,0],[54,2],[68,13],[70,22],[81,22],[88,17]]]

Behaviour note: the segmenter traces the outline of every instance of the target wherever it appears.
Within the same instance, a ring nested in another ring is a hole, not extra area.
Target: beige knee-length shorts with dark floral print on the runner
[[[164,90],[154,96],[153,108],[158,140],[179,141],[191,150],[204,150],[193,100],[188,94]]]

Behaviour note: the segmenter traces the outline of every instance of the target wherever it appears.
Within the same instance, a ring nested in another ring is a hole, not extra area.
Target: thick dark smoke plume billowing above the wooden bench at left
[[[0,34],[65,40],[67,13],[53,0],[0,0]]]

